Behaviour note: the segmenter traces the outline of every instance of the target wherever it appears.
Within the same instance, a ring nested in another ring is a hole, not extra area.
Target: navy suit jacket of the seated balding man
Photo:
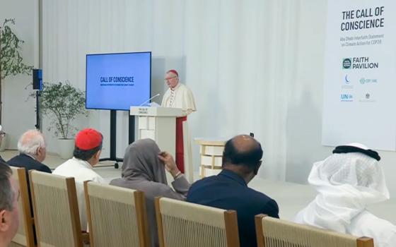
[[[266,214],[279,218],[278,205],[272,198],[249,188],[242,177],[226,169],[217,176],[209,176],[193,183],[187,201],[235,210],[241,247],[257,246],[255,215]]]

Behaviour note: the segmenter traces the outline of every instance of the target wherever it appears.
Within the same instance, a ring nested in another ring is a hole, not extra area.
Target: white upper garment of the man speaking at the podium
[[[177,83],[175,88],[166,90],[161,106],[181,108],[185,115],[197,111],[191,90],[181,83]]]

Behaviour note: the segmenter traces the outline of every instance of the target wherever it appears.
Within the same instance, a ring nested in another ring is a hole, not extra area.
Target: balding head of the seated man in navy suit
[[[250,135],[236,135],[228,140],[223,152],[223,167],[227,165],[242,166],[252,171],[260,167],[262,147]]]

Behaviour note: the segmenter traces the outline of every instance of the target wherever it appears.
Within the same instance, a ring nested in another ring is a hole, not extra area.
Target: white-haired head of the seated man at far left
[[[37,130],[26,131],[18,140],[18,151],[42,162],[47,155],[44,135]]]

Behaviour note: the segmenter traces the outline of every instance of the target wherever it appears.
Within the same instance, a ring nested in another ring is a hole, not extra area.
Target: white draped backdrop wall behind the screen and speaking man
[[[320,145],[327,1],[44,0],[43,6],[46,80],[67,79],[83,89],[85,54],[150,50],[156,92],[165,90],[170,68],[194,92],[192,138],[254,132],[264,147],[259,175],[301,183],[314,161],[330,155],[332,148]],[[108,112],[91,111],[81,126],[98,128],[108,141],[108,122]],[[122,157],[126,112],[118,127]],[[197,145],[193,152],[197,165]],[[396,154],[380,154],[396,193]]]

